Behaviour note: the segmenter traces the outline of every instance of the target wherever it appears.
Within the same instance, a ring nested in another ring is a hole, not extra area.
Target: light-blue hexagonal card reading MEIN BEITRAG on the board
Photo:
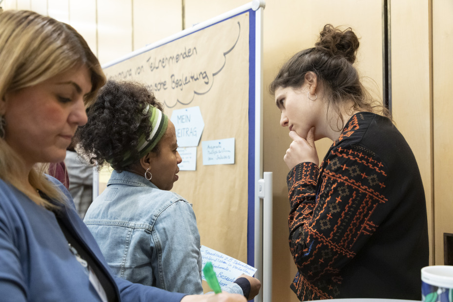
[[[175,124],[176,139],[180,147],[198,146],[205,128],[199,106],[173,110],[170,120]]]

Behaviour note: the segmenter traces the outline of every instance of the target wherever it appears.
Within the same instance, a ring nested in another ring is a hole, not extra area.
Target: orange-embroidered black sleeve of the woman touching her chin
[[[311,162],[287,178],[289,247],[307,281],[335,278],[389,214],[379,207],[386,172],[374,153],[358,145],[333,148],[322,167],[319,179]]]

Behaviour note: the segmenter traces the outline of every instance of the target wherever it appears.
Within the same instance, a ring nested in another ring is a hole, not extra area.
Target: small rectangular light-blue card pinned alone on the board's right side
[[[215,141],[202,141],[203,164],[234,163],[234,138]]]

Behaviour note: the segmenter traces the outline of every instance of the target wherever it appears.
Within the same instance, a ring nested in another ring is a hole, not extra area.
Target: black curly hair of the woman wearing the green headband
[[[88,122],[79,127],[75,143],[90,163],[102,167],[108,162],[115,170],[129,170],[140,160],[140,137],[151,132],[151,110],[147,104],[163,111],[163,104],[138,82],[109,80],[99,91],[97,100],[88,110]],[[130,152],[134,162],[122,166]],[[159,153],[159,144],[152,150]]]

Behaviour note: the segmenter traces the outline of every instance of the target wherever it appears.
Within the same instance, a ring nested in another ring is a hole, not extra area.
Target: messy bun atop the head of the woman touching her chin
[[[319,34],[315,48],[331,56],[342,56],[350,63],[354,63],[359,48],[359,39],[350,27],[341,30],[331,24],[326,24]]]

